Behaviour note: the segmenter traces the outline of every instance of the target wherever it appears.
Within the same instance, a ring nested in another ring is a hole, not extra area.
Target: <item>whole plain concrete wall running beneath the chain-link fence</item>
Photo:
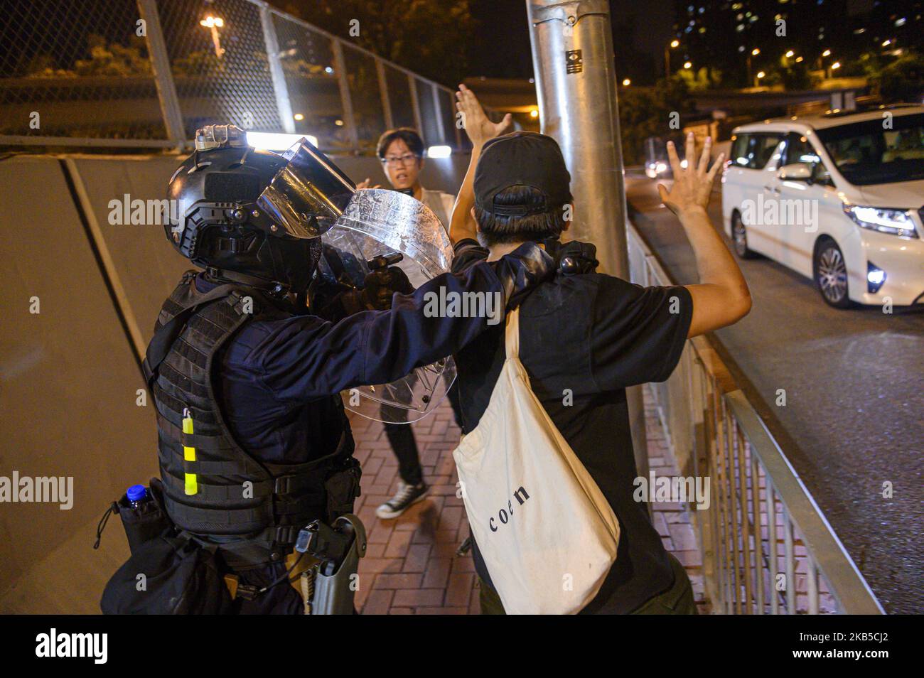
[[[387,186],[377,159],[335,160],[356,181]],[[109,502],[157,473],[153,405],[136,404],[144,384],[132,343],[143,351],[190,265],[162,226],[110,224],[109,201],[163,199],[179,162],[0,163],[0,477],[73,478],[74,495],[69,510],[0,503],[0,612],[97,612],[105,582],[128,558],[118,516],[100,550],[91,545]],[[467,165],[466,156],[428,161],[422,182],[455,191]],[[30,313],[32,297],[39,313]]]

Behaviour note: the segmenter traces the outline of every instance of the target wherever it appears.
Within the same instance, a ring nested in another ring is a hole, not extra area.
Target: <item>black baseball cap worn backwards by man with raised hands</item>
[[[496,205],[494,196],[512,186],[543,193],[540,205]],[[552,137],[518,131],[490,139],[475,168],[475,206],[492,214],[528,216],[557,209],[571,201],[571,175]]]

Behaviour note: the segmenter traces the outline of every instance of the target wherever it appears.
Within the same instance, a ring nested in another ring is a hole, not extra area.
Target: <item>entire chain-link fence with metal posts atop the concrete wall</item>
[[[371,152],[387,127],[458,148],[452,91],[259,0],[17,0],[0,145],[188,146],[233,123]]]

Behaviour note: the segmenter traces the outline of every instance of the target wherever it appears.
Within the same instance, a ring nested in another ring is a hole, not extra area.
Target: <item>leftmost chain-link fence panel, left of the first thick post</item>
[[[167,139],[134,0],[19,0],[0,27],[0,135]]]

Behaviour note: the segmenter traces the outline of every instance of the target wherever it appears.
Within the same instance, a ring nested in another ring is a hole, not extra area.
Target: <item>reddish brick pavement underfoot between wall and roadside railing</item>
[[[366,525],[369,550],[359,563],[357,607],[363,614],[478,614],[477,577],[470,554],[456,549],[468,537],[462,500],[456,498],[452,451],[459,430],[444,403],[412,424],[430,495],[393,520],[379,520],[375,508],[397,490],[397,461],[378,422],[350,417],[362,464],[362,496],[357,513]],[[650,467],[659,476],[676,475],[674,459],[646,389]],[[655,503],[654,526],[668,551],[687,568],[699,611],[704,599],[701,556],[686,509]]]

